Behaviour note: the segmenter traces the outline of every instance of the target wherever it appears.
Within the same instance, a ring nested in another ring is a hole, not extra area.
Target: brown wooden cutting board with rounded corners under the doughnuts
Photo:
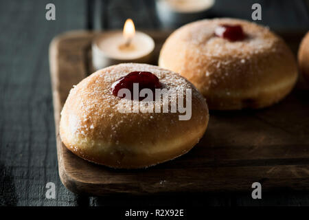
[[[148,32],[159,53],[168,32]],[[309,189],[309,90],[300,80],[292,94],[262,110],[211,111],[208,129],[189,153],[140,170],[117,170],[73,155],[59,137],[60,111],[69,90],[93,72],[93,32],[57,36],[49,49],[58,168],[73,192],[114,193],[249,191]],[[297,51],[302,34],[282,34]],[[156,63],[157,57],[153,63]]]

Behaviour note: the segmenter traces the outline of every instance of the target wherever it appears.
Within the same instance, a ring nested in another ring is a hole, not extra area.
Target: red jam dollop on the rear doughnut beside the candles
[[[215,34],[229,41],[242,41],[246,37],[241,25],[220,25],[216,28]]]

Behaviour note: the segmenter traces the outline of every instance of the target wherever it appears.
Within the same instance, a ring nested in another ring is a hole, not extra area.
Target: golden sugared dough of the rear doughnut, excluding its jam
[[[215,36],[220,24],[242,25],[247,38]],[[159,66],[190,80],[207,98],[209,109],[267,107],[295,85],[292,52],[268,28],[239,19],[210,19],[184,25],[165,41]]]

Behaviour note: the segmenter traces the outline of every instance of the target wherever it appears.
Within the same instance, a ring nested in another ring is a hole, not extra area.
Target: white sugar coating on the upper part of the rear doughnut
[[[214,34],[216,28],[226,23],[229,25],[242,25],[247,37],[242,41],[231,42],[216,36]],[[272,53],[274,56],[278,56],[279,50],[282,50],[281,39],[270,32],[268,28],[239,19],[211,19],[184,25],[170,36],[165,45],[169,43],[178,44],[179,42],[184,44],[183,47],[191,48],[194,52],[195,55],[192,58],[194,65],[209,66],[209,69],[207,69],[208,73],[204,73],[207,76],[211,75],[212,69],[224,68],[229,65],[233,65],[235,69],[238,69],[246,62],[255,62],[252,65],[258,66],[258,61],[253,59],[253,56],[265,53]],[[170,47],[165,50],[163,48],[161,53],[171,50],[172,48]],[[190,56],[190,52],[187,52],[187,50],[177,50],[176,54],[177,57]],[[161,65],[172,69],[168,67],[170,65],[168,61],[161,61]],[[177,63],[177,65],[181,65],[181,67],[176,71],[180,73],[187,71],[187,62]],[[256,69],[260,71],[259,67]],[[196,71],[198,72],[198,69]],[[222,78],[228,75],[229,72],[225,72]],[[209,84],[211,83],[216,84],[216,79],[209,82]]]

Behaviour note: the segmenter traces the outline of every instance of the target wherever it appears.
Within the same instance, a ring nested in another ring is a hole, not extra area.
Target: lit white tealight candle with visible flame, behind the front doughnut
[[[127,19],[124,30],[109,31],[95,37],[92,44],[92,61],[95,69],[117,63],[148,63],[155,48],[153,39],[136,32],[134,23]]]

